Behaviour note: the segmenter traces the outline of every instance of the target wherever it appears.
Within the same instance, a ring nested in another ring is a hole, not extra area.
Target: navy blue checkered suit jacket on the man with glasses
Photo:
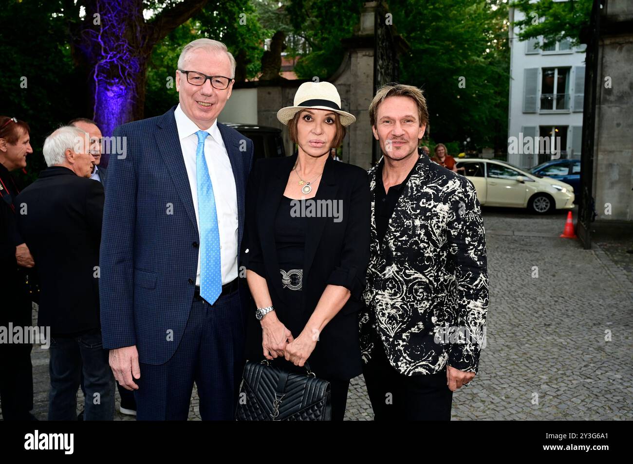
[[[136,345],[139,360],[148,364],[172,357],[195,290],[200,238],[174,110],[115,129],[113,137],[126,137],[127,150],[110,156],[103,213],[103,347]],[[218,128],[235,176],[241,249],[253,142],[233,128]]]

